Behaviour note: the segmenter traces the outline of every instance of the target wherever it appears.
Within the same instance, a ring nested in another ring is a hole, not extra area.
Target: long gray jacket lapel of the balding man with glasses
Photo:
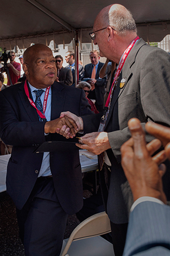
[[[124,64],[124,67],[122,68],[120,77],[118,79],[117,82],[117,86],[116,86],[116,90],[113,94],[112,97],[112,102],[111,102],[111,108],[109,110],[109,115],[107,118],[107,122],[105,123],[105,127],[107,127],[109,119],[111,118],[113,109],[114,109],[114,105],[116,104],[118,98],[121,96],[122,92],[124,91],[126,85],[128,86],[128,81],[131,77],[131,66],[135,63],[135,57],[139,51],[139,49],[146,44],[145,41],[143,41],[143,39],[139,39],[138,42],[134,45],[133,49],[131,49],[131,52],[129,53],[129,56],[126,59],[126,62]],[[120,82],[122,79],[125,79],[125,85],[120,88]]]

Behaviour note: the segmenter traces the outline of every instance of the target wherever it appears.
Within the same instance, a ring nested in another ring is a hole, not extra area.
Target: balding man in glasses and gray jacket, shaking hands
[[[101,189],[111,220],[114,253],[122,255],[133,195],[121,166],[120,148],[130,138],[130,118],[138,118],[143,126],[147,121],[170,126],[170,58],[167,52],[151,47],[137,37],[134,19],[122,5],[101,10],[93,30],[91,37],[99,46],[100,56],[118,64],[117,78],[101,122],[102,114],[82,117],[81,129],[90,134],[82,137],[79,147],[97,155],[106,151],[105,163],[99,172]],[[93,131],[98,132],[91,133]],[[147,142],[151,139],[147,134]],[[169,200],[170,168],[167,170],[163,183]]]

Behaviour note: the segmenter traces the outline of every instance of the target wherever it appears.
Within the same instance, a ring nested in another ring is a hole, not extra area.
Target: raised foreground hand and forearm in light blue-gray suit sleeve
[[[121,147],[122,167],[133,192],[124,256],[170,254],[170,207],[163,191],[162,176],[170,159],[170,129],[156,123],[146,123],[154,141],[146,144],[139,119],[128,122],[131,138]],[[165,150],[151,157],[162,145]]]

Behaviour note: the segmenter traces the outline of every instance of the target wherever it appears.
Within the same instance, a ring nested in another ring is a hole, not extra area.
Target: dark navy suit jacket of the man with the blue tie
[[[76,115],[91,114],[83,90],[54,82],[52,85],[51,120],[69,110]],[[16,84],[0,92],[0,131],[2,141],[11,144],[12,154],[7,167],[7,192],[16,208],[22,209],[37,176],[43,154],[33,151],[48,141],[67,141],[59,134],[44,135],[44,122],[39,122],[36,109],[24,92],[24,84]],[[78,150],[50,152],[50,169],[62,208],[68,214],[82,208],[82,173]]]

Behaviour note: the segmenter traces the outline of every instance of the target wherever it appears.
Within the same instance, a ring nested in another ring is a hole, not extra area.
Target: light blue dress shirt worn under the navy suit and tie
[[[28,84],[29,84],[29,82],[28,82]],[[37,88],[33,87],[31,84],[29,84],[29,88],[31,90],[33,102],[35,102],[36,93],[34,93],[33,90],[37,90]],[[41,102],[42,102],[42,106],[43,106],[46,88],[42,88],[42,90],[44,90],[44,92],[41,95]],[[50,87],[49,94],[48,94],[48,100],[46,102],[46,110],[45,110],[45,117],[46,117],[47,121],[50,121],[50,119],[51,119],[51,106],[52,106],[52,88]],[[38,177],[49,176],[49,175],[52,175],[52,172],[50,170],[50,163],[49,163],[49,152],[44,152]]]

